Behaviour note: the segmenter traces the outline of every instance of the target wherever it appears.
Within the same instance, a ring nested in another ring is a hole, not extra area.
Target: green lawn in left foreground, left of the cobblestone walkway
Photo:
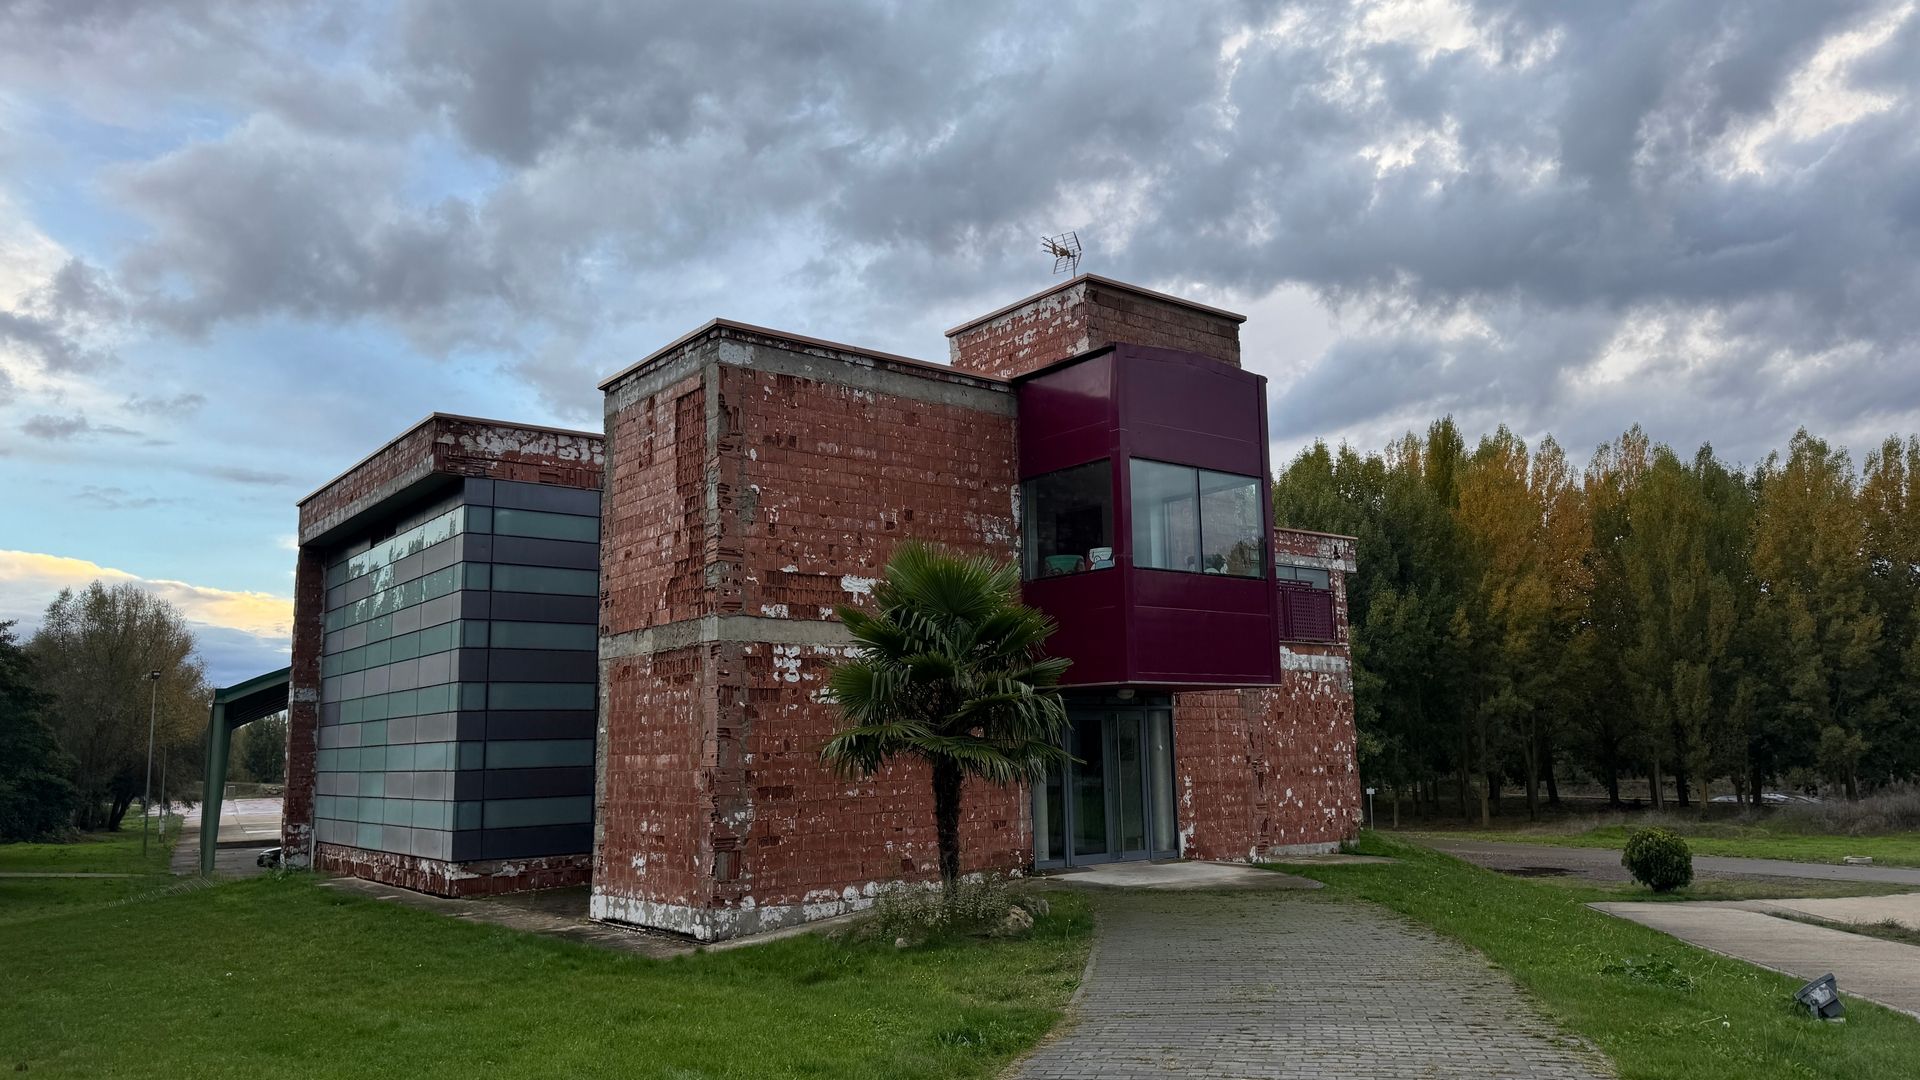
[[[31,1076],[993,1076],[1092,926],[912,949],[804,934],[649,961],[288,874],[0,924],[0,1070]],[[140,1001],[138,1009],[127,1009]]]

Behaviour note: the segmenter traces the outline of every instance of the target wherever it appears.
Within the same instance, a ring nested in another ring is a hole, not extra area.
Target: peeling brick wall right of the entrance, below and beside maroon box
[[[1175,696],[1175,788],[1187,857],[1331,849],[1361,824],[1346,623],[1354,542],[1294,528],[1275,528],[1273,540],[1279,561],[1329,571],[1334,642],[1286,642],[1277,688]]]

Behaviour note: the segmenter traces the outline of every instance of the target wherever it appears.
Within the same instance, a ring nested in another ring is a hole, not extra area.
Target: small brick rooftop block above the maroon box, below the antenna
[[[1012,379],[1112,342],[1240,365],[1240,315],[1081,275],[947,332],[954,367]]]

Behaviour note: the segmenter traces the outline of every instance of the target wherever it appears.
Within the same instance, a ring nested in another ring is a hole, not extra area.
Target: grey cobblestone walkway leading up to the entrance
[[[1079,1015],[1025,1080],[1597,1080],[1478,953],[1396,917],[1275,892],[1102,896]]]

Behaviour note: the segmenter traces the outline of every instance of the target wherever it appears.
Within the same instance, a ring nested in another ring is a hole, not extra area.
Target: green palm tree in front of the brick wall
[[[876,611],[841,607],[854,651],[828,686],[845,726],[820,755],[872,776],[908,755],[933,767],[941,884],[960,880],[960,782],[1039,780],[1066,761],[1066,659],[1041,653],[1054,621],[1020,601],[1012,563],[900,544]]]

